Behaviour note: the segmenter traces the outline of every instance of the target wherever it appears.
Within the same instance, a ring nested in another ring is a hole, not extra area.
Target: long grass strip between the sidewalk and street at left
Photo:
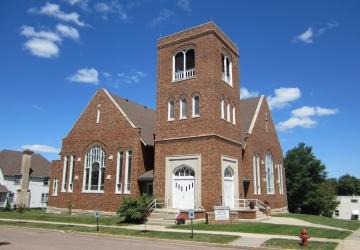
[[[167,240],[198,241],[198,242],[208,242],[208,243],[217,243],[217,244],[226,244],[240,238],[238,236],[230,236],[230,235],[194,234],[194,238],[191,239],[190,233],[156,232],[156,231],[144,232],[139,230],[125,229],[125,228],[107,228],[101,226],[100,226],[100,231],[97,232],[96,227],[41,224],[41,223],[31,223],[31,222],[13,222],[13,221],[0,221],[0,225],[62,230],[66,232],[100,233],[106,235],[122,235],[122,236],[167,239]]]

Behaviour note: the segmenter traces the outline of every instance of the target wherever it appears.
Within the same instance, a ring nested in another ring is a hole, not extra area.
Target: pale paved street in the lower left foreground
[[[121,238],[111,236],[64,233],[9,226],[0,226],[0,248],[16,250],[49,249],[144,249],[146,250],[219,250],[228,247],[191,245],[184,242],[169,242],[155,239]]]

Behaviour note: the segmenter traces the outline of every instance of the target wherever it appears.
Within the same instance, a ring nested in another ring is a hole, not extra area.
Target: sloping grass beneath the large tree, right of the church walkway
[[[296,218],[300,220],[304,220],[311,223],[331,226],[331,227],[339,227],[344,228],[348,230],[357,230],[360,227],[360,222],[357,221],[351,221],[351,220],[340,220],[340,219],[334,219],[329,218],[325,216],[317,216],[317,215],[310,215],[310,214],[292,214],[292,213],[286,213],[286,214],[276,214],[273,215],[276,217],[290,217],[290,218]]]

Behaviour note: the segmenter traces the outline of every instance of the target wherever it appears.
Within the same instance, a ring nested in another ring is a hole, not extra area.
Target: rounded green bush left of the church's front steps
[[[137,199],[126,197],[117,213],[120,217],[124,217],[125,222],[143,223],[148,216],[146,208],[152,200],[153,197],[149,195],[143,195]]]

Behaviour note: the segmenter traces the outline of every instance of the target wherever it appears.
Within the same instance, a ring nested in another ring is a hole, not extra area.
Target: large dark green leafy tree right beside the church
[[[312,147],[299,143],[290,149],[284,166],[290,212],[301,209],[306,214],[332,213],[337,204],[335,191],[326,183],[326,166],[315,157]]]

